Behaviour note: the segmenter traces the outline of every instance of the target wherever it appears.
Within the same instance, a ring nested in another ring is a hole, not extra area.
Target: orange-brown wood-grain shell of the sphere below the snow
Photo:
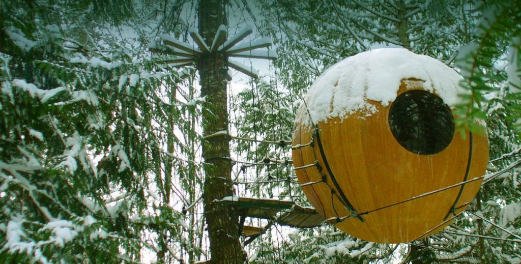
[[[422,87],[420,80],[402,81],[398,94],[421,90]],[[418,155],[402,147],[393,136],[388,121],[390,106],[384,107],[377,102],[373,104],[378,111],[369,117],[354,114],[318,124],[332,174],[357,212],[382,208],[464,181],[470,150],[468,132],[462,137],[456,131],[449,146],[437,154]],[[303,114],[307,115],[307,112],[301,110],[297,115]],[[296,124],[295,129],[294,145],[311,141],[312,126]],[[321,173],[327,176],[327,183],[303,187],[317,211],[324,213],[326,219],[349,216],[341,199],[331,194],[332,189],[337,194],[338,190],[331,184],[331,175],[325,170],[325,160],[320,156],[317,144],[294,150],[293,155],[295,167],[318,161],[322,168],[321,172],[317,167],[297,170],[301,184],[320,181]],[[485,173],[488,161],[486,135],[474,136],[471,160],[467,179]],[[470,202],[480,184],[481,181],[466,184],[456,207]],[[460,186],[369,213],[363,216],[363,222],[352,218],[336,226],[367,241],[409,242],[443,223],[458,192]],[[436,228],[436,231],[448,224],[450,221]]]

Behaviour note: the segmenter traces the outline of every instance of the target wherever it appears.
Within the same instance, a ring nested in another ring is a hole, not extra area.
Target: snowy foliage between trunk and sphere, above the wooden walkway
[[[303,203],[302,191],[295,180],[291,167],[291,128],[293,109],[291,95],[278,87],[275,82],[255,81],[251,87],[239,92],[231,102],[239,138],[235,151],[266,166],[241,167],[243,181],[257,181],[260,184],[239,186],[249,189],[254,197],[278,197],[298,199]],[[242,139],[241,139],[242,138]],[[244,140],[249,139],[249,140]],[[252,141],[253,140],[253,141]],[[242,156],[241,155],[241,156]],[[274,165],[269,164],[286,164]],[[246,191],[246,190],[240,190]]]

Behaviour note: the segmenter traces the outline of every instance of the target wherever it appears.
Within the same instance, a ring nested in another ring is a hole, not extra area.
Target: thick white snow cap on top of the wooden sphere
[[[407,78],[423,80],[424,89],[449,106],[463,92],[458,84],[463,78],[443,62],[405,48],[380,48],[345,58],[322,73],[305,98],[309,115],[315,124],[355,112],[370,116],[377,108],[368,100],[389,105]]]

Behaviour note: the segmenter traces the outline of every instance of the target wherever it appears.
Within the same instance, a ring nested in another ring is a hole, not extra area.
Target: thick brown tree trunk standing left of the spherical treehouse
[[[208,46],[221,24],[227,24],[225,1],[205,0],[199,6],[199,32]],[[221,52],[206,53],[198,61],[201,76],[201,95],[205,96],[203,108],[203,133],[210,135],[228,131],[228,107],[226,75],[227,58]],[[204,183],[204,215],[207,223],[212,263],[243,263],[245,254],[239,241],[239,217],[237,211],[215,200],[233,195],[231,183],[229,137],[212,136],[203,144],[206,162]]]

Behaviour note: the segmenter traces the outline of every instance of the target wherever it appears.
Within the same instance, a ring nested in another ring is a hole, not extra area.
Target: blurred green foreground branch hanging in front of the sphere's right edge
[[[459,117],[458,127],[479,132],[479,126],[474,120],[486,119],[486,95],[505,83],[504,69],[498,69],[496,66],[500,61],[504,61],[507,46],[512,45],[516,48],[519,45],[514,42],[515,37],[521,33],[520,8],[519,4],[510,5],[499,1],[482,4],[477,8],[483,16],[473,36],[473,42],[460,48],[456,58],[456,65],[465,78],[462,86],[469,91],[468,94],[462,95],[463,102],[456,110]],[[519,61],[518,56],[512,59]],[[515,94],[509,97],[508,99],[516,99]],[[516,104],[511,108],[510,112],[514,114]]]

